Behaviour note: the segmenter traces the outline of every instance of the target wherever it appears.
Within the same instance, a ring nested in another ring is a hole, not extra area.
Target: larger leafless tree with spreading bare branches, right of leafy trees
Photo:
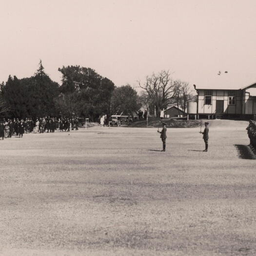
[[[158,74],[153,73],[152,76],[146,77],[146,82],[143,85],[139,81],[138,85],[145,90],[149,101],[156,108],[158,117],[160,116],[160,111],[164,108],[166,109],[167,105],[176,96],[176,86],[169,71],[163,70]]]

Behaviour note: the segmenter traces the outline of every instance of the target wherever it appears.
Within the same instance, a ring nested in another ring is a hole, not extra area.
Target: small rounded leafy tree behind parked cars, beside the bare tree
[[[115,89],[111,98],[111,112],[130,114],[132,117],[134,113],[138,113],[141,104],[137,92],[131,85],[123,85]]]

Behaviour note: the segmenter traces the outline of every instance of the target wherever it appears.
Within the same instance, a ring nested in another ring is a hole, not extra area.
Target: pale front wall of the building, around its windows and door
[[[212,104],[205,105],[205,90],[198,90],[198,114],[215,114],[216,100],[223,100],[225,114],[241,114],[242,111],[242,92],[236,90],[236,104],[229,105],[229,90],[212,90]]]

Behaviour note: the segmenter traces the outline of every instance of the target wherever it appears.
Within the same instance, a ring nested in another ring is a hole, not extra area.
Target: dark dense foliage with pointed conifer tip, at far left
[[[57,115],[54,98],[58,95],[59,84],[45,74],[41,61],[34,76],[23,79],[9,76],[7,82],[1,84],[1,96],[11,110],[11,117]]]

